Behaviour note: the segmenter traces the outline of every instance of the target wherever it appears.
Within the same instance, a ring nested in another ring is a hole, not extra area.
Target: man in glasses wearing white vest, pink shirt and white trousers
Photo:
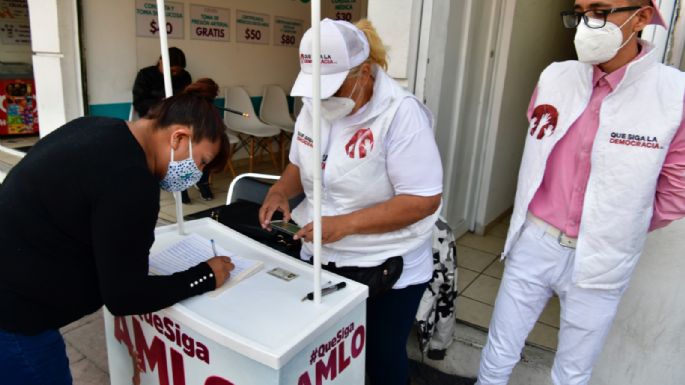
[[[576,0],[578,61],[540,76],[477,384],[504,385],[548,299],[556,385],[587,384],[648,231],[685,216],[685,76],[637,35],[654,0]]]

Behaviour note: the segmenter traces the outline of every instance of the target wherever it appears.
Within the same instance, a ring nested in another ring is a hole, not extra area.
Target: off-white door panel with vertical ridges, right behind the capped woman
[[[476,182],[481,175],[488,111],[494,104],[495,65],[507,59],[506,51],[498,48],[500,42],[506,47],[510,37],[498,32],[510,29],[511,22],[502,15],[515,0],[434,1],[429,5],[428,49],[418,49],[419,64],[426,63],[422,94],[436,118],[445,175],[443,214],[460,235],[475,218]]]

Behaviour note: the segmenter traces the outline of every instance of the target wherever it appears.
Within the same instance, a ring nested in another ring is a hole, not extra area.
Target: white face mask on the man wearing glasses
[[[623,42],[623,28],[640,10],[633,13],[621,26],[607,21],[602,28],[590,28],[583,21],[578,24],[576,38],[574,40],[578,60],[588,64],[602,64],[613,59],[618,51],[623,48],[635,32],[631,33],[628,39]],[[601,23],[601,20],[588,19],[588,23]]]

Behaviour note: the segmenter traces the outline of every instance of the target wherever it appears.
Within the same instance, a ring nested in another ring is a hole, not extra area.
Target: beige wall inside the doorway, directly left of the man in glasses
[[[553,61],[574,58],[574,30],[565,29],[559,17],[572,4],[516,0],[501,110],[488,133],[483,160],[478,232],[513,205],[528,127],[525,114],[540,72]]]

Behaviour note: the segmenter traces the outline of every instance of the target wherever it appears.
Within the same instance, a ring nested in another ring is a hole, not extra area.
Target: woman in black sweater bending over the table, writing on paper
[[[148,275],[160,186],[181,191],[227,158],[205,87],[135,122],[85,117],[41,139],[0,185],[0,378],[71,384],[58,329],[103,304],[153,312],[221,286],[228,257]],[[59,188],[55,188],[59,186]]]

